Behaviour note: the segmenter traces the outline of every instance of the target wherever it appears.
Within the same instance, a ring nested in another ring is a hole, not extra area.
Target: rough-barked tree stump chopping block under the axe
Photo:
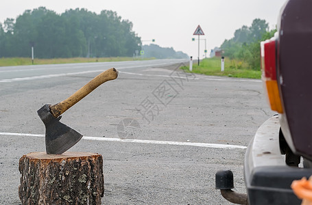
[[[22,204],[101,204],[101,154],[32,152],[19,160]]]

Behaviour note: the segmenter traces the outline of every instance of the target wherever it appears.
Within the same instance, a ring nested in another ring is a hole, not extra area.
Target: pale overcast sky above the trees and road
[[[193,33],[200,25],[210,51],[225,39],[234,36],[236,29],[250,26],[254,18],[265,19],[270,27],[277,23],[278,13],[286,0],[0,0],[0,23],[14,18],[25,10],[44,6],[61,14],[65,10],[86,8],[99,14],[101,10],[117,12],[133,23],[133,30],[142,40],[155,39],[155,44],[173,47],[197,58],[198,44],[192,42]],[[149,42],[143,42],[149,44]],[[200,56],[205,43],[200,41]]]

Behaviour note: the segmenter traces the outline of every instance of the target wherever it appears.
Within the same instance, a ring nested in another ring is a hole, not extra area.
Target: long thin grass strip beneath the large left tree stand
[[[152,58],[149,58],[152,59]],[[141,58],[133,59],[132,57],[73,57],[73,58],[56,58],[56,59],[34,59],[34,65],[42,64],[75,64],[89,62],[108,62],[108,61],[133,61],[142,60]],[[144,58],[145,60],[145,58]],[[25,66],[32,65],[32,59],[27,57],[2,57],[0,58],[0,66]]]

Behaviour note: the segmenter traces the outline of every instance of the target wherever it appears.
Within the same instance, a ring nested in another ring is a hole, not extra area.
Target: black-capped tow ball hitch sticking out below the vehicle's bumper
[[[236,193],[234,188],[233,173],[230,170],[219,170],[215,174],[215,189],[220,189],[221,195],[233,204],[248,205],[247,194]]]

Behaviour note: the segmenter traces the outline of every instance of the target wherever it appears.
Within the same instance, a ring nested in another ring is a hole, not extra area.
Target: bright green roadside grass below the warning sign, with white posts
[[[189,66],[184,66],[182,69],[189,72]],[[261,70],[252,70],[243,61],[236,59],[224,59],[224,72],[221,72],[221,59],[219,57],[203,59],[200,61],[200,66],[197,66],[197,61],[196,63],[194,61],[192,72],[215,76],[261,79]]]

